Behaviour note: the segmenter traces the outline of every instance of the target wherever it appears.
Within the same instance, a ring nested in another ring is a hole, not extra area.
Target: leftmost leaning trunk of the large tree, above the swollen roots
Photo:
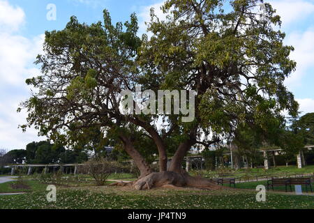
[[[128,153],[128,155],[132,157],[136,166],[138,167],[138,169],[140,169],[140,178],[151,174],[151,167],[149,167],[149,164],[147,164],[147,162],[144,160],[144,157],[142,157],[142,155],[134,148],[130,139],[123,135],[119,136],[119,138],[124,144],[124,149],[126,153]]]

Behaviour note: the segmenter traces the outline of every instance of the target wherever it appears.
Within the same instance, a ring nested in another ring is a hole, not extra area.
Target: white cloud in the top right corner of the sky
[[[271,6],[277,10],[278,15],[281,16],[283,26],[299,22],[306,19],[314,13],[313,1],[305,0],[275,0],[269,1]]]

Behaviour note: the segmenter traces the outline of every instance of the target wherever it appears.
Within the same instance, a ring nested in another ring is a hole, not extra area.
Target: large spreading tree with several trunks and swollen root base
[[[68,145],[99,128],[104,137],[119,139],[139,167],[140,178],[132,184],[138,190],[216,187],[182,169],[192,146],[214,144],[244,123],[267,132],[284,109],[297,114],[297,102],[283,85],[296,66],[289,59],[293,47],[283,44],[276,11],[265,3],[261,15],[260,3],[169,0],[163,6],[167,20],[151,10],[151,38],[142,40],[135,15],[124,26],[112,25],[107,10],[103,23],[80,24],[72,17],[65,29],[46,32],[45,53],[36,61],[42,75],[27,80],[37,91],[22,104],[29,112],[22,128],[35,125],[40,134]],[[134,92],[137,85],[155,93],[195,91],[194,120],[121,114],[119,93]],[[154,145],[147,151],[158,153],[158,173],[151,173],[137,148],[143,137]],[[174,155],[167,167],[168,153]]]

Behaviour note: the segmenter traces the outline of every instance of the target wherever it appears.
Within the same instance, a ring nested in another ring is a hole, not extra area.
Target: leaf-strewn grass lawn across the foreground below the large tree
[[[38,182],[29,181],[33,192],[21,195],[0,196],[1,208],[314,208],[314,197],[267,193],[266,202],[255,200],[256,192],[249,190],[178,190],[158,188],[135,191],[126,187],[57,187],[57,202],[46,201],[45,188]],[[253,182],[255,183],[255,182]],[[253,187],[253,183],[250,187]],[[246,185],[245,185],[246,184]],[[242,187],[249,187],[245,183]],[[3,186],[2,186],[3,187]]]

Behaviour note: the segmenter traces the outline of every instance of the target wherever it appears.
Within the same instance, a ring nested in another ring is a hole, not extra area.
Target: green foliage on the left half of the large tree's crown
[[[141,44],[134,14],[124,26],[125,30],[121,22],[114,26],[104,10],[103,23],[80,24],[71,17],[65,29],[45,33],[44,54],[36,60],[43,75],[27,79],[38,93],[22,103],[29,112],[23,130],[35,125],[58,144],[73,146],[95,128],[112,125],[106,117],[119,104],[112,98],[131,78],[130,72],[136,72],[134,56]]]

